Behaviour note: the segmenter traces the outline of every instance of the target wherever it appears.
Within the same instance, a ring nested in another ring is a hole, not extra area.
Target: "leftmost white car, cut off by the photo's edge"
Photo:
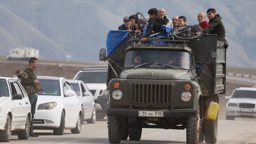
[[[0,77],[0,141],[9,142],[11,131],[19,139],[28,139],[31,106],[21,84],[13,78]]]

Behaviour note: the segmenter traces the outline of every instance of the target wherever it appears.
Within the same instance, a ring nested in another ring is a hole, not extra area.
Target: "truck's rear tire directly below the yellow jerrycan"
[[[205,143],[216,143],[217,142],[217,132],[218,132],[218,117],[215,121],[209,121],[204,119],[204,141]]]

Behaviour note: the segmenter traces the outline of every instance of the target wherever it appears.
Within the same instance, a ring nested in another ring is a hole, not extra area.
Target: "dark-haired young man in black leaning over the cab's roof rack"
[[[158,10],[156,8],[152,8],[148,10],[149,14],[149,21],[148,21],[148,28],[147,32],[145,33],[144,37],[141,38],[141,41],[146,41],[147,37],[150,36],[151,31],[154,31],[155,33],[159,32],[162,25],[166,25],[166,22],[163,18],[158,17]]]

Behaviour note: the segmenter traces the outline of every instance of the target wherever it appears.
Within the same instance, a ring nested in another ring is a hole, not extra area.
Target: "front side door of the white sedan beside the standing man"
[[[67,82],[64,80],[62,83],[63,95],[68,90]],[[72,125],[73,116],[73,101],[72,97],[64,95],[64,109],[65,109],[65,125]]]

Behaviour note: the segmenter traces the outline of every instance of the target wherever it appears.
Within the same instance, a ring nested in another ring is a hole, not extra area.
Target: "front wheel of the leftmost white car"
[[[6,123],[5,123],[5,130],[0,131],[0,142],[9,142],[11,140],[11,117],[8,114]]]

